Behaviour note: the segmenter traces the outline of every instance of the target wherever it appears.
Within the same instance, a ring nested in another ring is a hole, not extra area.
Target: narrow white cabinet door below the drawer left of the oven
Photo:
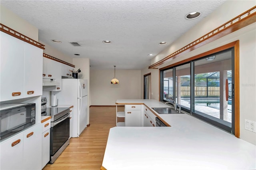
[[[42,133],[42,168],[50,161],[50,128]]]

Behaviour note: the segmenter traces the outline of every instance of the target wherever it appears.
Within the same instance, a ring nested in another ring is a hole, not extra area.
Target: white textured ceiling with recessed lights
[[[39,29],[39,40],[62,53],[90,58],[91,69],[144,69],[224,0],[1,0]],[[202,12],[186,20],[190,12]],[[60,40],[56,44],[51,40]],[[103,40],[112,43],[104,44]],[[74,47],[69,42],[78,42]],[[166,45],[158,45],[167,42]]]

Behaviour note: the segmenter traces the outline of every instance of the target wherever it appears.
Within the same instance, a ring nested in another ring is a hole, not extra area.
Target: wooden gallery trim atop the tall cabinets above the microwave
[[[15,30],[12,30],[12,28],[9,28],[8,26],[5,26],[4,24],[0,23],[0,31],[5,32],[6,34],[9,34],[10,36],[13,36],[15,38],[18,38],[24,42],[30,43],[36,47],[39,47],[41,49],[45,49],[43,44],[24,36],[23,34],[20,34],[19,32],[16,32]]]

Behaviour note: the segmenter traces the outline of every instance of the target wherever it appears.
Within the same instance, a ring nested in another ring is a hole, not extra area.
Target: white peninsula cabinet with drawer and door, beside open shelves
[[[125,126],[141,126],[141,105],[125,105]]]

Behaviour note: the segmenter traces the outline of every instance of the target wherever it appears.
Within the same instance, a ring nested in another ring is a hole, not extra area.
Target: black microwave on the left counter
[[[0,108],[0,140],[36,123],[36,103],[3,103]]]

